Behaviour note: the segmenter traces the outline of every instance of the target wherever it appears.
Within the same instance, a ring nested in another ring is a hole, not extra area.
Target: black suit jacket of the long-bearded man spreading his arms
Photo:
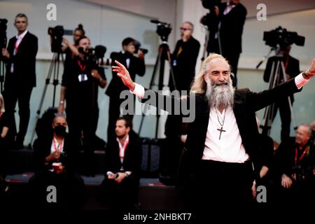
[[[258,161],[258,147],[259,133],[257,122],[255,118],[255,112],[265,108],[269,104],[281,100],[283,97],[299,92],[295,85],[295,80],[290,79],[286,83],[281,83],[271,90],[265,90],[262,92],[251,92],[246,89],[235,90],[235,101],[233,111],[239,127],[239,134],[241,135],[242,144],[244,145],[246,153],[248,153],[251,160],[254,162]],[[170,97],[158,94],[152,90],[146,90],[142,102],[146,102],[150,97],[155,95],[157,99],[155,101],[148,101],[153,106],[155,102],[166,102]],[[166,99],[158,99],[160,97]],[[190,97],[192,98],[192,97]],[[179,100],[172,98],[173,101]],[[185,99],[186,100],[186,99]],[[173,102],[174,104],[177,104]],[[190,106],[193,106],[191,102]],[[159,108],[167,110],[164,104],[159,105]],[[186,158],[189,162],[185,169],[190,174],[195,174],[198,165],[202,160],[204,152],[204,143],[207,136],[207,127],[209,124],[209,102],[204,94],[195,95],[195,120],[188,124],[188,137],[186,140]],[[168,111],[171,112],[172,111]]]

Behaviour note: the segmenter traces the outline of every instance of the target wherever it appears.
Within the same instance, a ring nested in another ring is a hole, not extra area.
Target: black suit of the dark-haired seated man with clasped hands
[[[101,185],[101,198],[118,208],[130,208],[137,200],[141,169],[141,144],[137,134],[130,132],[130,142],[125,150],[123,163],[120,162],[119,146],[116,139],[109,142],[105,151],[105,179]],[[123,170],[122,170],[123,169]],[[109,180],[107,172],[132,172],[121,183]]]

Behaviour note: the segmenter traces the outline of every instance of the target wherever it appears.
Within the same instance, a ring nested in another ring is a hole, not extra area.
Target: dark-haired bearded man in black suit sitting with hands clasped
[[[116,139],[106,146],[105,167],[101,200],[114,209],[134,209],[140,179],[141,144],[128,117],[116,121]]]

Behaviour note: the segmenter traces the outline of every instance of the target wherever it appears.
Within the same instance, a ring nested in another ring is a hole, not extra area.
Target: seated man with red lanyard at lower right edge
[[[311,127],[302,124],[295,138],[282,141],[276,152],[281,200],[304,201],[314,197],[315,146],[310,138]]]

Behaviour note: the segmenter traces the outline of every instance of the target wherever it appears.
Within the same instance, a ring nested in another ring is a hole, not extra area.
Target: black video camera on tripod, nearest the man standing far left
[[[51,36],[51,51],[61,52],[62,50],[62,38],[64,35],[72,35],[71,29],[64,29],[63,26],[48,27],[48,34]]]

